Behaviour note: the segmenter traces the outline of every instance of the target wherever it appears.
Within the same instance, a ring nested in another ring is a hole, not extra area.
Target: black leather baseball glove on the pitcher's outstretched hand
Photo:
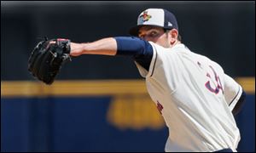
[[[55,81],[61,70],[61,65],[67,60],[71,61],[70,40],[44,38],[38,42],[28,59],[28,71],[33,77],[50,85]]]

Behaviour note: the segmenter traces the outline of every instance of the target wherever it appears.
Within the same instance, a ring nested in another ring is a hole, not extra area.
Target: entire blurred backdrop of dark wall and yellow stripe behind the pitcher
[[[168,132],[132,59],[84,55],[52,86],[27,71],[44,36],[129,36],[146,8],[177,17],[182,42],[241,83],[238,151],[255,151],[255,2],[1,1],[1,151],[164,151]]]

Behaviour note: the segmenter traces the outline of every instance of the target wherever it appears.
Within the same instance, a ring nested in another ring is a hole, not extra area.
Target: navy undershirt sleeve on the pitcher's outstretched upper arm
[[[147,71],[153,57],[151,44],[138,37],[114,37],[117,42],[117,55],[132,56]]]

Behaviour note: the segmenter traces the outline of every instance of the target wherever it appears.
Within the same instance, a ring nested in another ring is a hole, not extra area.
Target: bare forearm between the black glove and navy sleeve
[[[115,55],[117,53],[117,43],[113,37],[103,38],[96,42],[75,43],[71,42],[72,56],[81,54],[103,54]]]

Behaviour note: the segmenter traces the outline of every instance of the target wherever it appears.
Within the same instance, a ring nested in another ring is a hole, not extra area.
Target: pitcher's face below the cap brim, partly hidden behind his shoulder
[[[170,48],[170,40],[168,34],[163,28],[157,26],[143,26],[139,30],[138,37],[150,42],[159,44],[164,48]]]

